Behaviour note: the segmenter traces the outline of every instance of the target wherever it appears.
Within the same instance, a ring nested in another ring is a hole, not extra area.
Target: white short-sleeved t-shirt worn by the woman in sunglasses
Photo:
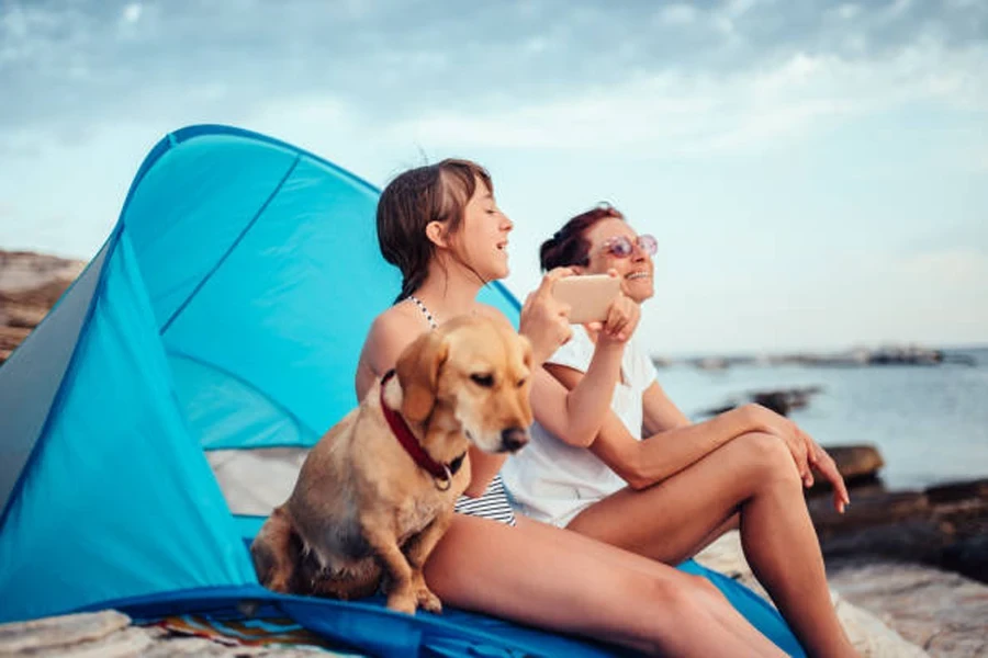
[[[585,373],[594,342],[582,326],[547,361]],[[610,401],[611,411],[641,440],[642,395],[655,381],[655,367],[633,341],[625,347],[621,381]],[[587,506],[622,489],[627,483],[585,447],[564,443],[538,423],[531,442],[502,468],[513,504],[524,514],[564,527]]]

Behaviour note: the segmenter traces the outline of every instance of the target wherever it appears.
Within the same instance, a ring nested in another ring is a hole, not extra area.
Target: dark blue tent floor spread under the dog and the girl
[[[778,613],[761,597],[730,578],[689,560],[680,569],[711,580],[748,620],[787,654],[802,656]],[[496,617],[450,609],[434,615],[395,613],[383,598],[344,602],[282,595],[260,586],[188,590],[143,599],[106,602],[135,623],[193,615],[191,623],[226,623],[263,631],[267,620],[291,620],[297,629],[322,638],[319,646],[372,656],[573,656],[598,658],[628,651],[582,638],[553,634]],[[184,620],[188,621],[188,620]],[[184,623],[184,622],[180,622]],[[173,626],[175,624],[172,624]],[[283,626],[283,624],[282,624]],[[281,631],[284,628],[281,627]]]

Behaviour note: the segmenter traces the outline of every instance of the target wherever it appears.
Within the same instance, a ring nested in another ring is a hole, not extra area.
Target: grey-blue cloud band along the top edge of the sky
[[[161,115],[172,110],[162,99],[207,111],[189,90],[220,88],[240,106],[323,90],[363,114],[407,118],[643,77],[757,75],[799,53],[895,58],[927,42],[962,52],[986,34],[984,3],[22,0],[0,5],[0,88],[16,99],[0,106],[0,125]]]

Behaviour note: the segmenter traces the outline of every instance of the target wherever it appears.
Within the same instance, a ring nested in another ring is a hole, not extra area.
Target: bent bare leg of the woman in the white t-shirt
[[[624,489],[593,504],[569,527],[675,564],[692,557],[736,513],[752,570],[807,651],[854,655],[830,600],[801,481],[788,450],[774,436],[739,436],[653,487]]]

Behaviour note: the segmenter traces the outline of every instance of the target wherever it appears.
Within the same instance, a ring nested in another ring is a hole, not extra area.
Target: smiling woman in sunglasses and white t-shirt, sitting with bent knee
[[[636,235],[609,205],[573,217],[540,249],[542,269],[616,270],[624,294],[638,304],[652,296],[654,254],[655,239]],[[579,386],[598,345],[595,330],[574,327],[544,368],[566,388]],[[833,484],[834,504],[843,510],[847,491],[830,456],[795,423],[755,405],[691,423],[633,340],[620,375],[599,395],[610,400],[611,412],[590,439],[547,429],[547,420],[563,423],[532,396],[538,422],[531,442],[503,470],[517,507],[671,565],[740,525],[753,571],[807,653],[854,655],[830,600],[801,491],[816,467]]]

